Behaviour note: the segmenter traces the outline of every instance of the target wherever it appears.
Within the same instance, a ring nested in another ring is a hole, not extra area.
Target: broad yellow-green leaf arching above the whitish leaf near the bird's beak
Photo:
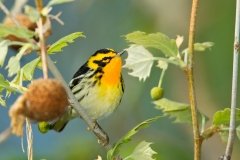
[[[161,50],[166,56],[176,57],[178,48],[174,39],[169,39],[162,33],[146,34],[145,32],[135,31],[127,34],[126,40],[144,47],[153,47]]]

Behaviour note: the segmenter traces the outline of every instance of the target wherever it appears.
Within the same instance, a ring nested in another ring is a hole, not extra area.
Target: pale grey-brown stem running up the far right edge
[[[233,53],[233,75],[232,75],[232,98],[231,98],[231,117],[228,135],[228,143],[225,151],[224,160],[230,160],[234,144],[235,135],[235,119],[236,119],[236,103],[237,103],[237,77],[238,77],[238,51],[239,51],[239,16],[240,16],[240,0],[236,1],[236,19],[235,19],[235,35],[234,35],[234,53]]]

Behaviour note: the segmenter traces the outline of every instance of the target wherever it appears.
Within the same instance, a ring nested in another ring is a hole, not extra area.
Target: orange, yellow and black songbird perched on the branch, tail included
[[[69,83],[76,99],[93,120],[112,114],[122,99],[123,53],[124,51],[117,53],[110,48],[98,50],[79,68]],[[60,132],[68,121],[78,117],[71,106],[68,108],[68,112],[50,125],[51,129]]]

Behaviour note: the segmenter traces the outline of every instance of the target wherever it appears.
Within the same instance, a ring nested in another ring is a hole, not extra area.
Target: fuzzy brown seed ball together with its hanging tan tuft
[[[33,121],[52,121],[61,116],[68,105],[68,96],[61,82],[38,79],[13,104],[9,111],[12,132],[22,136],[25,117]]]

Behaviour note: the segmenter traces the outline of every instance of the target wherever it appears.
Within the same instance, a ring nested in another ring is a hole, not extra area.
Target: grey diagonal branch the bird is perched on
[[[48,55],[47,55],[47,63],[48,63],[48,67],[49,67],[50,71],[52,72],[52,74],[54,75],[54,77],[62,82],[64,88],[66,89],[66,91],[68,93],[68,97],[70,98],[70,101],[72,102],[72,106],[74,107],[76,112],[88,124],[88,126],[91,128],[93,133],[98,137],[100,142],[103,145],[106,145],[105,146],[106,149],[109,150],[111,148],[111,146],[108,145],[107,134],[101,129],[101,127],[99,125],[96,126],[96,123],[93,122],[93,120],[88,116],[86,111],[80,106],[78,100],[75,98],[75,96],[73,95],[69,86],[67,85],[67,83],[63,79],[62,75],[60,74],[60,72],[58,71],[56,66],[53,64],[52,60],[50,59],[50,57]]]

